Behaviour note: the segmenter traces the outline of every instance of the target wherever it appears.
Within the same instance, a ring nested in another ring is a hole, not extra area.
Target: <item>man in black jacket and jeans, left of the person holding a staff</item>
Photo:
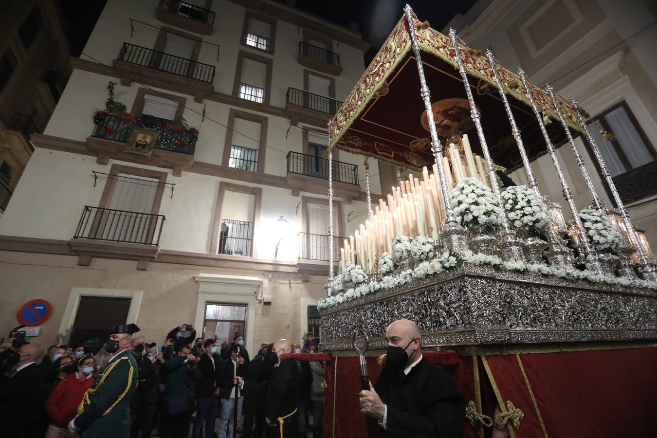
[[[219,351],[219,347],[214,339],[206,339],[203,346],[204,352],[196,365],[203,377],[200,382],[196,382],[196,420],[194,420],[192,438],[200,438],[204,422],[206,438],[212,438],[214,421],[217,416],[217,395],[219,395],[217,369],[221,359],[215,355]]]

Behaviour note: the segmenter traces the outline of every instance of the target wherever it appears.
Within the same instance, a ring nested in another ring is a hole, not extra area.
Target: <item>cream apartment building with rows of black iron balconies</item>
[[[319,330],[327,121],[368,47],[274,1],[107,2],[0,220],[3,330],[36,298],[48,344],[117,321],[152,341],[181,324],[239,333],[255,351]],[[363,158],[332,167],[349,236]]]

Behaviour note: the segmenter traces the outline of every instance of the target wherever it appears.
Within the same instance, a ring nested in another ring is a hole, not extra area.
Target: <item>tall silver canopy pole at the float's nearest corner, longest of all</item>
[[[406,14],[409,33],[411,34],[411,45],[413,47],[413,53],[415,54],[415,62],[417,63],[417,73],[420,77],[420,95],[422,96],[422,100],[424,100],[424,109],[426,110],[426,118],[429,123],[431,151],[434,153],[434,158],[436,158],[438,179],[440,179],[440,190],[445,204],[445,221],[443,232],[440,233],[443,241],[443,248],[447,252],[464,253],[468,250],[468,246],[465,242],[465,230],[454,218],[454,213],[451,204],[449,203],[449,188],[447,188],[447,177],[445,176],[445,168],[443,167],[443,145],[438,139],[438,132],[436,132],[434,112],[431,108],[431,93],[429,92],[429,87],[426,85],[424,66],[422,66],[422,59],[420,58],[420,45],[417,42],[417,36],[415,35],[413,9],[411,9],[409,5],[406,5],[404,7],[404,13]]]

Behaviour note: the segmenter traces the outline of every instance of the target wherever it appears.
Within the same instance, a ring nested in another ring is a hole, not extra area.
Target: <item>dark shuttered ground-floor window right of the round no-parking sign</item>
[[[68,345],[110,336],[110,328],[127,322],[130,298],[81,296]]]

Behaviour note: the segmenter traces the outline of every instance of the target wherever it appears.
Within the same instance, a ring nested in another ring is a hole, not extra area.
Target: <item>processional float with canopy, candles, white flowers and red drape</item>
[[[319,305],[321,347],[332,355],[325,436],[366,435],[352,336],[369,334],[374,382],[386,326],[398,318],[417,322],[424,357],[461,387],[464,437],[496,425],[517,437],[657,434],[645,421],[657,408],[657,270],[588,119],[578,102],[405,7],[328,122],[328,202],[332,148],[362,154],[368,213],[339,248]],[[597,194],[574,135],[589,142],[616,209]],[[581,210],[556,154],[566,142],[591,196]],[[570,221],[533,174],[530,159],[545,152]],[[369,157],[398,169],[399,185],[374,208]],[[527,185],[505,187],[495,162],[522,167]],[[613,424],[599,421],[610,414]]]

